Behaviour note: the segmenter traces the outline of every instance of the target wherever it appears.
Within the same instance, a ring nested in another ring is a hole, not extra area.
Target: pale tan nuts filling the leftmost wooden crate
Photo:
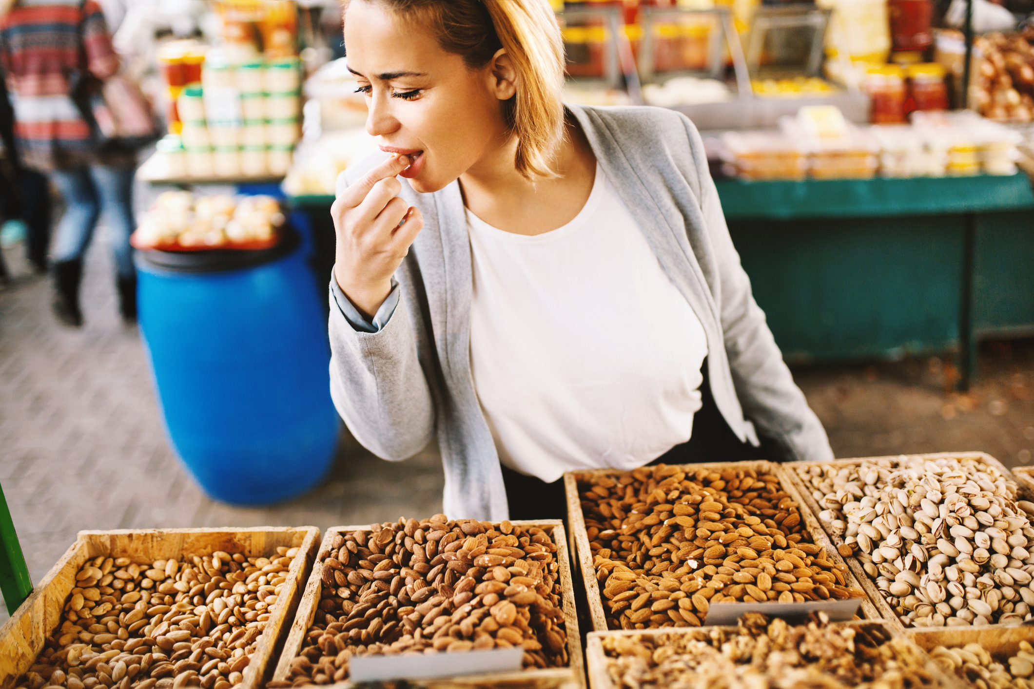
[[[230,689],[249,671],[298,549],[136,564],[98,556],[19,689]]]

